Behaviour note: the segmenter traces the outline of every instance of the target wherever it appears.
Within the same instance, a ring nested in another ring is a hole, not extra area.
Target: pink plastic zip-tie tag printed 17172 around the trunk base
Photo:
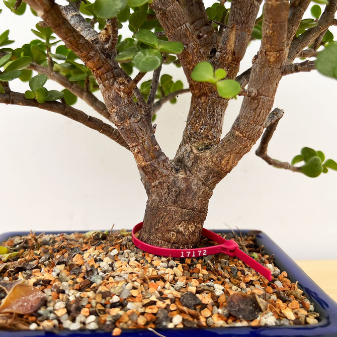
[[[143,223],[140,222],[135,225],[132,229],[132,241],[140,249],[149,252],[150,254],[172,257],[172,258],[198,258],[207,255],[223,253],[229,256],[235,256],[242,260],[246,265],[256,270],[267,280],[272,280],[272,273],[269,269],[262,266],[259,262],[252,259],[250,256],[245,254],[239,249],[238,244],[234,240],[226,240],[218,234],[215,234],[211,230],[203,228],[201,234],[205,237],[219,243],[215,246],[202,247],[202,248],[192,248],[192,249],[170,249],[162,248],[157,246],[152,246],[151,244],[140,241],[136,237],[136,233],[141,229]]]

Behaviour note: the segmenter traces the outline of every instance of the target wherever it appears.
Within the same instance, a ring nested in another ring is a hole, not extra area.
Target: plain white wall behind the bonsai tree
[[[2,2],[0,8],[0,33],[11,27],[10,38],[19,37],[22,44],[35,38],[30,29],[37,21],[29,21],[29,11],[18,17]],[[251,44],[241,70],[250,66],[258,48]],[[184,79],[174,67],[164,71]],[[52,82],[48,88],[59,89]],[[27,83],[12,84],[13,91],[27,89]],[[336,89],[337,81],[316,71],[282,79],[274,107],[285,114],[269,146],[272,157],[290,161],[309,146],[337,160]],[[156,120],[156,137],[171,158],[184,129],[189,94],[178,100],[166,104]],[[224,134],[240,102],[230,102]],[[85,104],[77,108],[99,117]],[[255,148],[214,190],[205,226],[261,229],[294,259],[337,259],[337,172],[311,179],[279,170],[256,157]],[[145,203],[129,151],[52,112],[0,105],[0,232],[131,228],[142,221]]]

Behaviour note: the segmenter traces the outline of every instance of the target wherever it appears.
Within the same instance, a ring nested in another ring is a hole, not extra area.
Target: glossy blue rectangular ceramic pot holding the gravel
[[[218,233],[229,232],[228,230],[218,230]],[[248,230],[241,230],[242,234]],[[48,232],[57,233],[57,232]],[[70,232],[66,232],[70,233]],[[5,241],[10,236],[27,235],[28,232],[8,232],[0,234],[0,242]],[[37,233],[39,234],[39,233]],[[312,325],[284,325],[284,326],[230,326],[217,328],[172,328],[156,329],[165,337],[337,337],[337,303],[331,299],[321,288],[317,286],[303,270],[265,233],[257,235],[258,244],[264,245],[268,255],[274,254],[275,264],[281,270],[287,271],[288,278],[298,281],[298,287],[304,291],[308,299],[314,304],[315,311],[320,314],[320,322]],[[69,337],[110,337],[111,332],[103,330],[87,331],[60,331],[60,336]],[[47,331],[30,330],[0,330],[0,337],[56,337],[56,334]],[[155,337],[155,334],[146,329],[122,330],[121,336],[143,336]]]

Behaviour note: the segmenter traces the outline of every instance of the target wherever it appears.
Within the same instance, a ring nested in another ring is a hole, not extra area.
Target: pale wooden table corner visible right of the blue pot
[[[296,260],[295,262],[337,302],[337,260]]]

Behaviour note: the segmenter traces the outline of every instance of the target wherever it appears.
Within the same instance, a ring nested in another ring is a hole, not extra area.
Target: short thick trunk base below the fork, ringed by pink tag
[[[193,247],[200,240],[212,192],[181,171],[153,184],[139,238],[159,247]]]

